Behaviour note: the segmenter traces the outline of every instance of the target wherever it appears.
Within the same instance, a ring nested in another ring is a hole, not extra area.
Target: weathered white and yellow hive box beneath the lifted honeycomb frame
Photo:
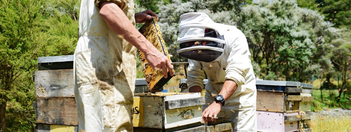
[[[191,124],[199,126],[204,102],[200,93],[135,93],[134,130],[168,131]]]

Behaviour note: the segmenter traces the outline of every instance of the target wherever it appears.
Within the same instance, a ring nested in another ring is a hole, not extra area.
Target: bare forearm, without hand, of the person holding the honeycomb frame
[[[124,12],[114,3],[101,4],[100,15],[116,34],[122,35],[125,40],[143,53],[148,51],[152,44],[134,27]]]

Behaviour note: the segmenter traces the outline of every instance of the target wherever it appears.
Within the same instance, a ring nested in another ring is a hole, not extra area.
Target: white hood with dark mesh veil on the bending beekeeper
[[[205,13],[185,13],[180,16],[180,49],[177,53],[185,58],[202,61],[217,61],[224,54],[225,40],[218,23]]]

